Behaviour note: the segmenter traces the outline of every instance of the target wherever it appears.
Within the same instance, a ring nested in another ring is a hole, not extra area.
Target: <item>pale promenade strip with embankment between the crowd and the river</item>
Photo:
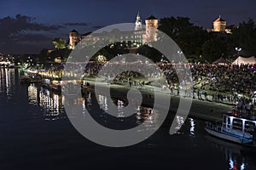
[[[94,89],[95,82],[87,81],[90,83],[90,89]],[[113,94],[111,97],[113,98],[122,98],[126,96],[126,93],[131,88],[137,88],[143,95],[154,96],[154,93],[158,93],[160,95],[171,95],[171,104],[170,104],[170,111],[176,112],[180,98],[189,98],[186,96],[183,91],[177,95],[177,91],[171,93],[169,89],[164,88],[153,88],[152,86],[144,85],[142,86],[128,86],[128,85],[118,85],[118,84],[107,84],[106,82],[96,82],[97,86],[105,87],[106,89],[110,86],[111,90],[113,90]],[[215,102],[212,99],[212,96],[202,96],[198,99],[195,95],[195,98],[192,98],[192,105],[189,111],[189,116],[200,118],[202,120],[210,120],[210,121],[220,121],[222,120],[223,113],[225,111],[231,111],[232,105],[227,103],[227,101],[223,102]],[[151,101],[154,101],[154,97],[152,97]],[[151,102],[150,102],[151,103]],[[154,102],[152,102],[154,103]]]

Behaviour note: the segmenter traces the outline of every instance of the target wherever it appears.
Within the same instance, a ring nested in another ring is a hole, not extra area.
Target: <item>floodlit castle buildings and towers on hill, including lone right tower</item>
[[[140,14],[137,14],[135,27],[133,31],[117,31],[115,36],[119,36],[120,42],[124,43],[129,48],[138,48],[141,45],[150,42],[155,42],[157,40],[157,28],[159,25],[159,20],[153,15],[149,16],[145,21],[145,28],[143,29],[143,20]],[[218,19],[214,20],[212,23],[212,29],[207,29],[207,32],[215,33],[225,33],[231,34],[231,29],[227,27],[227,21],[221,18],[219,15]],[[106,32],[105,32],[106,33]],[[83,39],[84,45],[88,45],[93,42],[106,41],[110,38],[110,34],[105,36],[102,33],[91,32],[79,36],[79,32],[76,30],[69,32],[69,48],[73,49],[75,46]],[[110,41],[110,40],[109,40]],[[111,42],[111,41],[110,41]]]

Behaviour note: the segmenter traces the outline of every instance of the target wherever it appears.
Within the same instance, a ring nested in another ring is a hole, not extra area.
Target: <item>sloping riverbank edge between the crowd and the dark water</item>
[[[95,82],[90,82],[90,90],[94,91]],[[154,93],[158,93],[160,95],[171,95],[171,103],[170,103],[170,111],[176,112],[180,98],[189,98],[184,97],[183,94],[171,94],[169,90],[165,90],[163,88],[154,88],[151,86],[141,87],[127,87],[116,84],[106,84],[105,82],[96,82],[98,87],[103,89],[101,93],[104,92],[107,94],[108,86],[110,87],[111,97],[120,99],[123,98],[126,100],[126,94],[131,88],[136,88],[143,95],[143,104],[144,106],[153,107],[154,105]],[[106,89],[106,90],[104,90]],[[190,117],[195,117],[204,121],[220,121],[222,120],[223,113],[225,111],[231,111],[234,105],[225,105],[223,103],[216,103],[211,101],[210,99],[192,99],[192,105],[189,111]]]

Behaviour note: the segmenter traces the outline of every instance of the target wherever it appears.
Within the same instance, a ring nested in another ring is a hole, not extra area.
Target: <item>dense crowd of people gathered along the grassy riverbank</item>
[[[84,74],[96,77],[100,73],[102,77],[112,80],[113,83],[125,82],[128,86],[143,87],[148,84],[170,88],[172,94],[176,91],[177,94],[198,99],[210,99],[211,96],[211,99],[217,102],[238,104],[241,99],[247,98],[244,100],[247,103],[256,103],[256,65],[159,62],[155,67],[155,64],[153,66],[138,61],[108,64],[108,69],[104,66],[106,63],[91,62],[86,65]],[[101,71],[102,69],[105,70]],[[144,79],[140,82],[137,81],[139,78]],[[148,82],[144,81],[146,79]],[[188,84],[189,86],[186,86]]]

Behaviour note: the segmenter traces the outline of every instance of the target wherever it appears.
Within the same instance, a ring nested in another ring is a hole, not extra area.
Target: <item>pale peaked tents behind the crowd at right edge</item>
[[[229,61],[227,61],[226,59],[224,59],[223,57],[217,59],[216,61],[214,61],[212,64],[230,64]],[[237,59],[235,59],[232,62],[232,65],[256,65],[256,58],[254,56],[252,57],[237,57]]]

